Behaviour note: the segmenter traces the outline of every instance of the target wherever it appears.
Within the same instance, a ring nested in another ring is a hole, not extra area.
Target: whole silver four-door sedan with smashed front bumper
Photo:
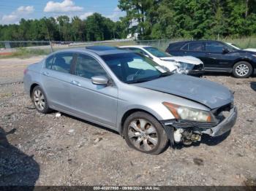
[[[220,136],[237,118],[226,87],[170,73],[127,50],[54,52],[28,66],[23,82],[38,112],[57,110],[116,130],[148,154]]]

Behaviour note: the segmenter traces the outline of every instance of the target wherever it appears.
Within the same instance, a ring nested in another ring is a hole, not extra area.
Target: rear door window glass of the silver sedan
[[[55,58],[53,59],[51,69],[56,71],[61,71],[64,73],[69,73],[72,61],[73,61],[73,53],[71,52],[56,53]]]

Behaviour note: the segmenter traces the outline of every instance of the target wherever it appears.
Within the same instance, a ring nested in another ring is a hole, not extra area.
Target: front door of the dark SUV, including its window
[[[228,47],[220,42],[206,42],[206,58],[204,59],[207,63],[207,67],[217,71],[229,71],[232,68],[235,57],[223,50]]]

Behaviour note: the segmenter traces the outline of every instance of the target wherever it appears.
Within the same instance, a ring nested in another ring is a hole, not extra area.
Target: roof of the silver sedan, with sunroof
[[[81,52],[81,53],[95,53],[97,55],[113,55],[113,54],[121,54],[121,53],[130,53],[129,50],[119,50],[119,49],[110,49],[110,50],[91,50],[87,48],[71,48],[65,50],[59,50],[57,52]]]

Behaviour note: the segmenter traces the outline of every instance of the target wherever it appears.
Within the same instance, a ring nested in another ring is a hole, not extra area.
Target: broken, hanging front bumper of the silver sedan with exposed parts
[[[237,109],[233,107],[230,109],[229,115],[227,117],[222,115],[223,119],[217,123],[165,120],[162,121],[162,125],[164,125],[165,129],[173,128],[173,135],[168,135],[170,141],[192,143],[193,141],[200,141],[200,136],[203,134],[221,136],[227,133],[235,125],[237,116]],[[176,135],[178,135],[178,139],[176,139]]]

